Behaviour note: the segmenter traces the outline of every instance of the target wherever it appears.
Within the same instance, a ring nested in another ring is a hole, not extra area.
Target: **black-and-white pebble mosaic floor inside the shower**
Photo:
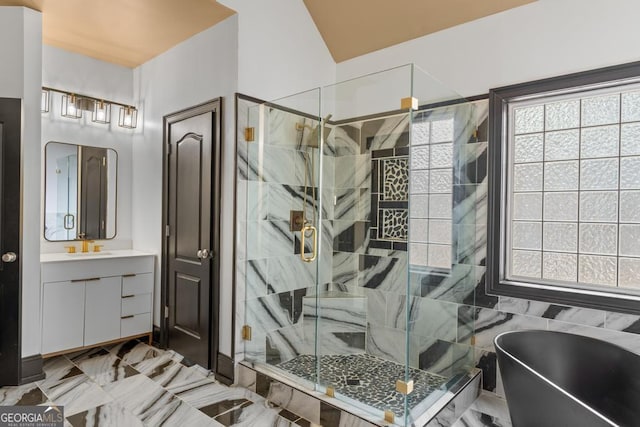
[[[396,417],[404,414],[405,395],[396,391],[396,381],[405,380],[407,368],[404,365],[369,354],[349,354],[320,356],[319,366],[316,356],[299,355],[276,367],[304,380],[331,386],[349,401],[379,411],[391,411]],[[434,393],[444,393],[448,381],[441,375],[415,368],[408,368],[408,376],[414,383],[413,391],[407,396],[409,411],[423,407],[425,400]]]

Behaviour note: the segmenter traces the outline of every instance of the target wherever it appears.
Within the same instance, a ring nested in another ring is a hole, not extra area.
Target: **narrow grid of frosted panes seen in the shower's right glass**
[[[412,131],[409,262],[450,269],[454,120],[428,116]]]

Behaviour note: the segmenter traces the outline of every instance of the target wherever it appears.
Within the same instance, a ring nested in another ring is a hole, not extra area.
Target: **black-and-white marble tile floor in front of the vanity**
[[[182,357],[137,340],[46,359],[46,379],[0,388],[0,405],[62,405],[65,426],[311,426]]]

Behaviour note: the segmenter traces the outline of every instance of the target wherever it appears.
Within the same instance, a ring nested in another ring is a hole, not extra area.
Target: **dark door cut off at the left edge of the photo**
[[[0,98],[0,386],[21,377],[19,99]]]

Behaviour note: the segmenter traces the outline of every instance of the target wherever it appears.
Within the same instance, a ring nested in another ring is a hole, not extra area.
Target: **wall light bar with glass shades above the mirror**
[[[111,106],[117,105],[120,107],[118,126],[135,129],[138,125],[138,109],[133,105],[95,98],[93,96],[80,95],[45,86],[42,87],[41,110],[43,113],[49,112],[49,104],[53,92],[62,94],[62,109],[60,115],[63,117],[79,119],[82,118],[82,110],[87,110],[91,111],[92,122],[109,124],[111,123]]]

